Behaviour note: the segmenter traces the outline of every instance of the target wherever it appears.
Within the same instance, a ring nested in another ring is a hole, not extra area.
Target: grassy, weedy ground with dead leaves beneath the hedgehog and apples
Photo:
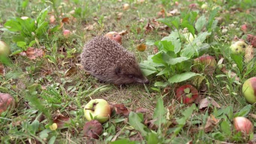
[[[0,58],[0,92],[15,99],[15,107],[0,114],[1,143],[255,143],[253,131],[234,131],[233,118],[247,117],[256,126],[255,104],[242,92],[243,83],[256,76],[256,1],[1,0],[0,9],[0,40],[11,51]],[[64,30],[70,34],[64,36]],[[149,85],[100,83],[83,70],[83,45],[110,31],[120,32],[122,46],[135,54]],[[185,42],[181,36],[188,32],[201,39]],[[164,37],[169,41],[160,41]],[[240,39],[249,47],[246,54],[231,54],[229,46]],[[141,45],[145,51],[138,49]],[[192,65],[203,53],[216,61],[211,74],[202,70],[207,65]],[[168,71],[158,74],[164,68]],[[197,76],[203,80],[195,84]],[[176,89],[185,84],[199,92],[193,104],[177,101]],[[203,107],[207,97],[212,103]],[[83,108],[95,98],[139,114],[112,113],[99,139],[89,140]],[[60,126],[58,120],[67,123]]]

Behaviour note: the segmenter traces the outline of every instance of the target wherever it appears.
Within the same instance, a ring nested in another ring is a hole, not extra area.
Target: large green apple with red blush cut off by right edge
[[[256,102],[256,77],[247,79],[243,84],[242,91],[246,101],[254,104]]]

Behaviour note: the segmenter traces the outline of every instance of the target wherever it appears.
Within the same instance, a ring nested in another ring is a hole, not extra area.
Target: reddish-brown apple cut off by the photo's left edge
[[[14,98],[9,94],[0,93],[0,114],[13,107],[15,107]]]

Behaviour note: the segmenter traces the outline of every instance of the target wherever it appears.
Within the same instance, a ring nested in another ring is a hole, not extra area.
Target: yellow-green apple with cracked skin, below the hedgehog
[[[85,105],[84,114],[87,120],[92,120],[93,117],[93,119],[98,120],[100,123],[104,123],[109,120],[111,108],[104,99],[92,99]]]

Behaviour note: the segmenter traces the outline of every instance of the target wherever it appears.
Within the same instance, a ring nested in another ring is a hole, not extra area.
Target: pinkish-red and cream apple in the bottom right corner
[[[242,132],[248,135],[253,132],[252,122],[245,117],[235,117],[233,120],[234,128],[237,132]]]

